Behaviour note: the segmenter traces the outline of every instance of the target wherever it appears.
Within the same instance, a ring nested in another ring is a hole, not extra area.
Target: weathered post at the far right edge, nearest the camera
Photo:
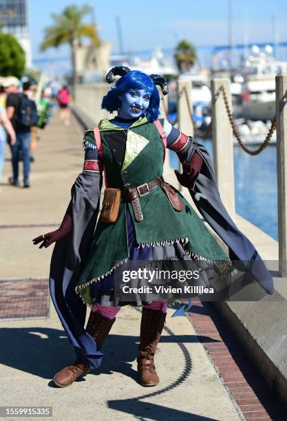
[[[276,76],[279,274],[287,276],[287,74]]]

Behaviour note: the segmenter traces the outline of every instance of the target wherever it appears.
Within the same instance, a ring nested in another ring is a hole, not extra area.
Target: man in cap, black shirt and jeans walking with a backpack
[[[11,144],[12,151],[12,171],[10,184],[19,186],[19,158],[20,151],[23,160],[23,186],[30,187],[30,142],[31,127],[37,124],[38,114],[36,104],[30,99],[30,82],[23,83],[23,93],[18,92],[16,78],[8,78],[6,92],[8,94],[6,108],[8,118],[10,118],[16,132],[17,142]]]

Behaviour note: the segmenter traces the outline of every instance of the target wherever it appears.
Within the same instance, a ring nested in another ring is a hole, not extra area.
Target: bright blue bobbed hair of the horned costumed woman
[[[153,83],[153,80],[147,74],[138,70],[132,70],[117,80],[116,85],[104,96],[102,108],[110,113],[116,111],[120,107],[118,96],[125,94],[131,88],[147,89],[147,94],[151,98],[149,99],[149,107],[145,111],[145,114],[147,120],[157,120],[160,114],[160,94],[158,94],[158,89]]]

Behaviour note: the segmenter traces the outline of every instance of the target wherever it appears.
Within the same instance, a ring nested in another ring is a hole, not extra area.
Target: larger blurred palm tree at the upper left
[[[54,25],[45,28],[45,38],[40,45],[40,50],[45,51],[50,47],[59,47],[68,43],[71,47],[72,80],[75,87],[78,82],[76,74],[76,48],[81,45],[81,39],[87,37],[94,45],[100,45],[100,39],[95,25],[83,23],[85,14],[92,12],[90,6],[67,6],[61,14],[52,13]]]

